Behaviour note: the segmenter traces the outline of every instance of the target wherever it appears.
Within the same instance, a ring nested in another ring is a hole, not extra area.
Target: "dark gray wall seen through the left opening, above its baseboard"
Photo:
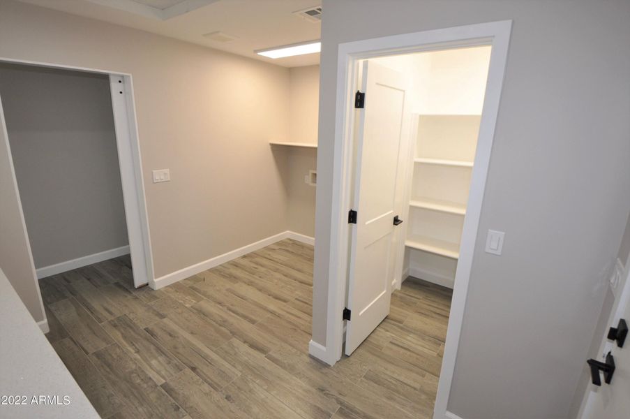
[[[35,267],[126,246],[109,78],[0,64],[0,96]]]

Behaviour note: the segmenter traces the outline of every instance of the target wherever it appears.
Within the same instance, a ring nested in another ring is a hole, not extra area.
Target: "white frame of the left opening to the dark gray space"
[[[137,279],[137,284],[149,284],[151,288],[155,289],[156,284],[155,275],[153,274],[153,253],[151,252],[149,216],[147,214],[147,200],[144,193],[142,159],[140,156],[140,142],[138,140],[131,74],[120,71],[65,66],[62,64],[26,61],[5,57],[0,57],[0,62],[59,68],[71,71],[84,71],[109,76],[120,177],[123,189],[123,203],[125,206],[127,235],[133,264],[134,281],[136,282]],[[10,156],[10,158],[13,161],[13,156]],[[13,171],[13,177],[15,178],[15,171]],[[17,190],[17,186],[16,193],[17,196],[20,196],[20,191]],[[21,207],[20,212],[22,212]],[[24,217],[23,212],[22,217]],[[32,261],[32,253],[30,257]]]

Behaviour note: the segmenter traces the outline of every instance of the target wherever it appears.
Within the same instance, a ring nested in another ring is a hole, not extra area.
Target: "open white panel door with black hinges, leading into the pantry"
[[[365,61],[356,138],[352,228],[348,279],[345,353],[350,355],[389,314],[393,264],[396,263],[394,216],[400,214],[401,156],[407,85],[400,73]]]

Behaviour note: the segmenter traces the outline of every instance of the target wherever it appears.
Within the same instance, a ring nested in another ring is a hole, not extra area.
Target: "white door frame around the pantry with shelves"
[[[350,197],[352,195],[352,149],[354,140],[354,108],[352,104],[354,103],[354,89],[357,86],[358,61],[401,53],[444,50],[474,45],[492,45],[488,84],[486,85],[486,96],[483,101],[477,154],[474,159],[470,197],[468,198],[460,245],[460,258],[453,288],[449,329],[444,347],[444,359],[435,401],[434,419],[443,419],[447,414],[451,381],[462,330],[474,244],[477,240],[477,230],[479,228],[483,191],[486,187],[490,152],[492,150],[501,89],[507,64],[511,25],[511,20],[471,24],[341,43],[338,46],[336,109],[339,112],[337,112],[335,120],[333,154],[326,351],[320,351],[318,354],[325,354],[323,357],[325,359],[322,360],[329,365],[333,365],[341,358],[343,345],[343,320],[341,313],[345,304],[349,245],[347,212],[350,210]]]

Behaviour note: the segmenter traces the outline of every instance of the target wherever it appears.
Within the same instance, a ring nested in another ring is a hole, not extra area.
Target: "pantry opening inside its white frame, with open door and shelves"
[[[389,314],[392,288],[407,278],[446,295],[453,288],[490,51],[416,52],[359,65],[346,355]],[[442,305],[448,314],[450,301]],[[444,330],[433,332],[443,344],[448,316],[437,320]]]

